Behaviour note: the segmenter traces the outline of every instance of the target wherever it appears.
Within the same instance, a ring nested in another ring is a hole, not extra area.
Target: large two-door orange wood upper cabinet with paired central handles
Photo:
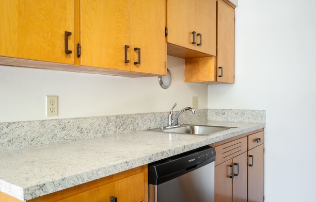
[[[163,75],[164,27],[164,0],[81,0],[80,64]]]

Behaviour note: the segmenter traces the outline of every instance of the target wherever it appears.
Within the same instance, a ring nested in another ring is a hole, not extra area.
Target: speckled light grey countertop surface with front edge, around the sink
[[[0,191],[30,200],[265,127],[221,121],[195,124],[237,128],[208,136],[138,131],[1,151]]]

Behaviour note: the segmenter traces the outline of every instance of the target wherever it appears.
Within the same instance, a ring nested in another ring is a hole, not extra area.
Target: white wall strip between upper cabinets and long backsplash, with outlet
[[[86,73],[0,66],[0,122],[116,114],[167,112],[191,106],[207,108],[207,85],[184,83],[184,60],[168,56],[172,84],[158,77],[127,78]],[[59,97],[59,116],[45,117],[46,95]]]

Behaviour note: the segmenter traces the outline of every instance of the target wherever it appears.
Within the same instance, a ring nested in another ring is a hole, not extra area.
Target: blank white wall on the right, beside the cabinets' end
[[[235,84],[208,108],[265,109],[266,202],[315,202],[316,1],[239,0]]]

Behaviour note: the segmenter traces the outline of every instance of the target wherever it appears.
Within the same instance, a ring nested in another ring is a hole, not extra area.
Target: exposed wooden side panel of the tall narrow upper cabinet
[[[215,78],[215,57],[186,59],[184,65],[185,82],[213,82]]]

